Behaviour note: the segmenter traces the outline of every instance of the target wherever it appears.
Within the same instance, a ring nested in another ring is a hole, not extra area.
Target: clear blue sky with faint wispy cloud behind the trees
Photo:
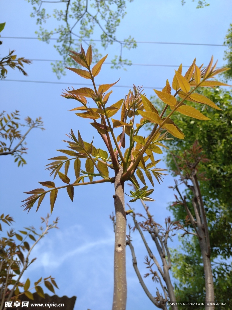
[[[61,6],[61,4],[59,4]],[[196,3],[187,1],[181,6],[179,0],[134,0],[127,5],[127,15],[122,20],[117,38],[122,40],[132,35],[137,41],[155,42],[185,42],[203,44],[223,44],[229,24],[232,22],[232,2],[230,0],[211,1],[209,7],[196,9]],[[0,22],[6,21],[1,36],[35,37],[35,20],[30,17],[31,5],[23,0],[2,0],[0,3]],[[55,26],[55,25],[54,25]],[[99,39],[98,32],[94,38]],[[53,48],[54,41],[48,45],[38,40],[2,39],[1,56],[7,55],[9,49],[15,49],[19,57],[28,59],[60,59]],[[109,53],[109,59],[119,53],[119,46],[114,44],[105,52],[99,46],[102,54]],[[218,66],[224,64],[225,47],[197,45],[161,45],[138,44],[132,51],[123,51],[123,57],[132,60],[134,64],[190,65],[197,58],[197,64],[207,64],[211,55],[218,59]],[[121,78],[118,85],[143,85],[147,87],[163,87],[168,78],[172,81],[172,67],[131,66],[127,71],[112,70],[110,65],[103,65],[98,75],[97,83],[112,83]],[[29,76],[24,77],[18,71],[9,70],[7,79],[51,81],[57,78],[51,71],[49,62],[33,61],[25,66]],[[39,84],[28,82],[0,82],[1,110],[8,113],[18,109],[22,119],[26,116],[36,118],[41,116],[46,131],[34,129],[27,138],[28,154],[25,155],[27,165],[18,168],[13,157],[2,156],[1,165],[1,211],[9,213],[16,220],[14,227],[40,226],[40,217],[50,210],[48,197],[44,199],[40,209],[35,213],[35,207],[27,214],[20,208],[20,201],[25,199],[23,192],[37,188],[37,181],[52,180],[44,170],[47,159],[58,156],[56,149],[64,148],[62,140],[70,128],[79,129],[83,139],[90,142],[95,131],[87,125],[87,121],[77,117],[68,110],[76,107],[74,100],[60,97],[62,89],[72,83],[86,82],[78,75],[67,72],[60,82],[63,84]],[[78,88],[78,86],[75,86]],[[152,89],[146,89],[148,97],[154,94]],[[124,97],[127,88],[113,88],[110,102],[113,104]],[[96,138],[94,145],[100,147]],[[156,159],[161,158],[159,156]],[[158,167],[165,167],[160,162]],[[69,168],[71,170],[71,168]],[[71,173],[71,178],[74,175]],[[56,184],[62,182],[58,179]],[[173,185],[170,175],[164,178],[163,184],[155,184],[152,197],[156,200],[150,203],[151,213],[158,223],[163,223],[170,215],[167,211],[168,202],[173,199]],[[129,192],[128,186],[126,192]],[[37,281],[41,276],[52,275],[60,290],[59,296],[77,296],[75,310],[106,310],[111,308],[113,298],[113,255],[114,232],[109,215],[114,210],[113,184],[91,185],[75,188],[72,203],[66,191],[59,191],[51,220],[60,217],[59,230],[50,231],[38,244],[32,253],[37,260],[25,272],[24,280],[30,277]],[[102,197],[102,194],[104,197]],[[126,198],[127,201],[127,198]],[[139,202],[134,203],[137,212],[142,211]],[[128,220],[130,221],[130,219]],[[149,236],[148,236],[149,237]],[[132,234],[138,266],[141,274],[146,272],[144,256],[147,254],[138,234]],[[151,248],[154,246],[150,243]],[[178,241],[170,242],[170,247],[178,246]],[[154,308],[145,295],[136,277],[131,262],[131,253],[127,249],[127,310]],[[156,284],[151,279],[145,279],[152,294],[155,294]]]

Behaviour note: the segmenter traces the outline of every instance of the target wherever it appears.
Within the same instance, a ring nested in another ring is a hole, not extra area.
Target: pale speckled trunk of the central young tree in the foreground
[[[127,278],[126,278],[126,229],[127,220],[124,201],[124,182],[120,181],[123,167],[115,171],[114,208],[116,216],[114,243],[114,298],[112,310],[126,310]]]

